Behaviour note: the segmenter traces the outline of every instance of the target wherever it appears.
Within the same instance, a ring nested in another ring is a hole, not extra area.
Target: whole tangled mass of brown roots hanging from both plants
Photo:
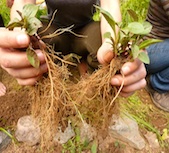
[[[70,116],[77,116],[82,123],[85,120],[96,128],[107,127],[114,113],[114,101],[124,84],[119,90],[110,85],[111,78],[121,69],[122,60],[113,59],[109,65],[74,83],[69,79],[68,65],[76,64],[57,56],[50,46],[39,46],[45,55],[48,74],[33,87],[31,97],[32,115],[41,129],[41,148],[49,151],[56,145],[58,128],[66,128]]]

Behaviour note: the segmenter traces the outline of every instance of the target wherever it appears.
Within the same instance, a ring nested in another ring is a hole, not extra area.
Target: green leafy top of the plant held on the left
[[[7,28],[9,30],[13,30],[15,27],[20,27],[21,29],[24,29],[25,32],[30,36],[30,39],[32,39],[32,41],[29,44],[28,48],[26,49],[26,53],[30,64],[35,68],[38,68],[40,65],[40,61],[34,50],[35,45],[36,46],[38,45],[39,47],[39,44],[37,44],[39,43],[37,31],[40,27],[42,27],[41,21],[38,18],[36,18],[38,6],[28,4],[23,7],[22,13],[20,11],[17,12],[21,19],[14,18],[14,20],[7,25]]]

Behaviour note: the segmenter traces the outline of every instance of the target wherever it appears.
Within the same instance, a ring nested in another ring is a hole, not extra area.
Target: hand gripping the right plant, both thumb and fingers
[[[110,44],[103,43],[97,54],[98,60],[101,64],[106,64],[114,57]],[[135,59],[133,62],[127,62],[121,69],[124,78],[121,74],[112,77],[112,86],[121,86],[124,82],[120,95],[127,97],[132,95],[136,90],[142,89],[146,86],[146,69],[144,64]]]

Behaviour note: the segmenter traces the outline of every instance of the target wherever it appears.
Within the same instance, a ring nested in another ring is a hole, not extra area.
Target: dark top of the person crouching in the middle
[[[64,28],[71,25],[79,28],[91,22],[95,12],[93,5],[98,3],[98,0],[46,0],[49,19],[57,10],[53,22]]]

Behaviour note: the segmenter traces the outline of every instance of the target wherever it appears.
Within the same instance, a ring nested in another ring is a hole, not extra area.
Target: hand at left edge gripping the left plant
[[[29,36],[23,32],[8,31],[5,28],[0,28],[0,34],[1,67],[15,77],[20,85],[34,85],[43,73],[47,72],[44,55],[40,50],[36,50],[41,63],[36,69],[30,65],[26,52],[19,50],[28,46]]]

